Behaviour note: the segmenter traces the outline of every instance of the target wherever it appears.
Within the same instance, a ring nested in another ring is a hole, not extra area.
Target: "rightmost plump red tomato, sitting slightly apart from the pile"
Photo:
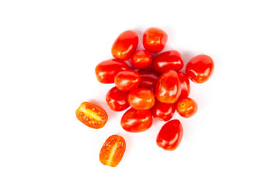
[[[195,83],[204,83],[214,71],[214,61],[207,55],[198,55],[190,59],[186,66],[186,74]]]

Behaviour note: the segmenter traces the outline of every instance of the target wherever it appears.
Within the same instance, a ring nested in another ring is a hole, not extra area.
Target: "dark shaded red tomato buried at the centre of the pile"
[[[138,88],[148,88],[155,92],[155,85],[160,74],[153,70],[139,70],[138,73],[141,76],[141,83]]]

